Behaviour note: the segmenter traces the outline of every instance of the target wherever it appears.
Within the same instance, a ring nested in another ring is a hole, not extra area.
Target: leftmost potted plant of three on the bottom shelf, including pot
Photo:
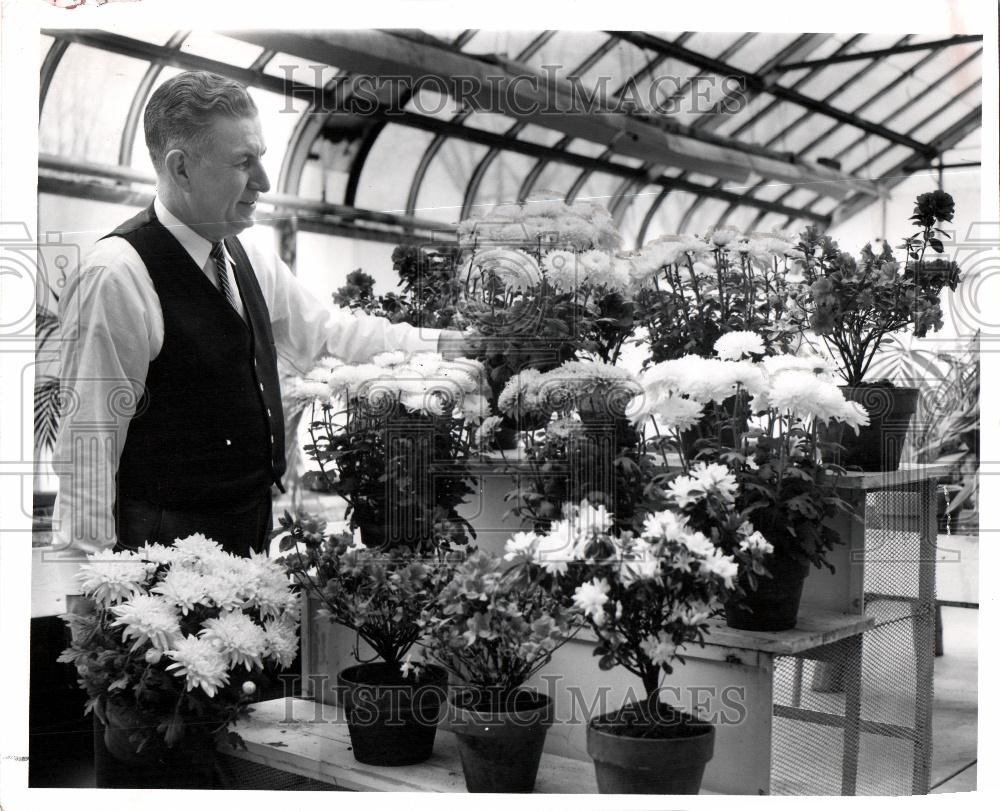
[[[279,549],[287,571],[317,616],[356,635],[358,664],[337,674],[354,757],[376,766],[403,766],[429,758],[448,674],[415,668],[409,650],[420,634],[422,611],[451,580],[464,553],[417,554],[400,545],[372,549],[350,532],[325,532],[309,515],[280,519]],[[360,642],[374,651],[363,660]]]

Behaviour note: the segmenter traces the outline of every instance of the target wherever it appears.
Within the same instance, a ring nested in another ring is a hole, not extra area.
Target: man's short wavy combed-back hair
[[[167,80],[150,97],[142,120],[153,167],[162,172],[171,149],[200,149],[216,117],[256,115],[247,89],[217,73],[188,71]]]

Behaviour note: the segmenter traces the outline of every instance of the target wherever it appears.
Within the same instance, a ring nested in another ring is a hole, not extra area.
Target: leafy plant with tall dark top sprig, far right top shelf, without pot
[[[925,259],[927,249],[943,253],[939,222],[951,222],[955,203],[943,191],[917,197],[911,221],[920,231],[904,240],[906,258],[896,260],[889,244],[865,245],[855,260],[829,237],[808,228],[798,244],[798,283],[789,285],[793,320],[819,336],[849,386],[859,385],[883,342],[907,328],[922,338],[941,328],[941,291],[954,290],[961,273],[948,260]]]

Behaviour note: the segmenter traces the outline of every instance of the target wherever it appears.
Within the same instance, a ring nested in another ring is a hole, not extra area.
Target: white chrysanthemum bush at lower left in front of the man
[[[298,597],[264,555],[239,558],[202,535],[173,546],[88,556],[77,581],[93,603],[69,614],[85,712],[124,715],[136,750],[239,743],[227,728],[254,700],[265,669],[298,652]]]

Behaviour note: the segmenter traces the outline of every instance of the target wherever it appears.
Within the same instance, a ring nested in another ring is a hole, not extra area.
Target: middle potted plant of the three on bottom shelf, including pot
[[[551,698],[524,687],[574,633],[569,612],[539,585],[538,567],[509,567],[483,550],[455,569],[421,618],[426,658],[454,678],[451,730],[470,792],[530,792]]]

